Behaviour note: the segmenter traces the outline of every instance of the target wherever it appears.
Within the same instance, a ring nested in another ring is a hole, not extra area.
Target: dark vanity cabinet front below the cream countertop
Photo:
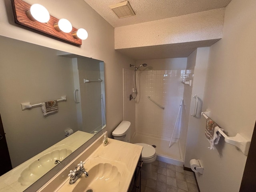
[[[138,164],[136,166],[136,169],[134,171],[134,174],[132,176],[132,181],[130,184],[130,187],[128,189],[128,192],[140,192],[140,179],[141,179],[141,168],[142,168],[142,159],[140,156],[140,159],[138,161]]]

